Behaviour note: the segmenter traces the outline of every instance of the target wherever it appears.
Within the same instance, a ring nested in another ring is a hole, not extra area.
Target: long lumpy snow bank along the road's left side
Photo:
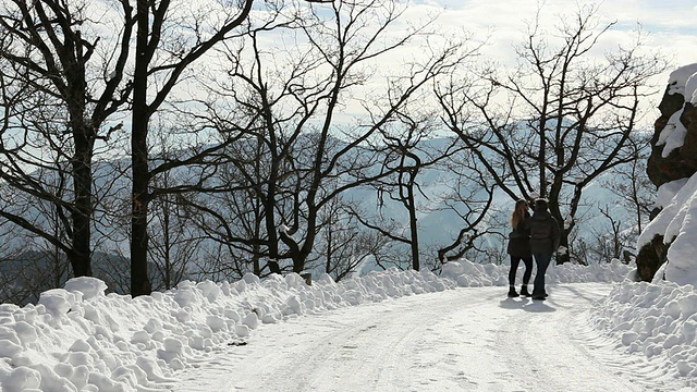
[[[454,286],[428,271],[340,283],[325,275],[311,286],[297,274],[249,274],[131,298],[105,295],[97,279],[73,279],[37,305],[0,305],[0,384],[2,392],[162,390],[173,371],[241,344],[260,323]]]

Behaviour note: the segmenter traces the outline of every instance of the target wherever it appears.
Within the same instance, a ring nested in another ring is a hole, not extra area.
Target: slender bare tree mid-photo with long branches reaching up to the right
[[[299,211],[304,211],[303,220],[305,230],[304,241],[295,241],[289,233],[281,232],[281,241],[289,247],[289,255],[293,259],[294,270],[304,268],[304,261],[313,249],[315,243],[317,215],[318,211],[333,197],[345,189],[359,186],[375,181],[380,176],[389,175],[398,169],[382,171],[370,175],[366,170],[374,164],[376,155],[369,154],[368,159],[360,162],[355,155],[362,144],[377,136],[377,132],[392,121],[396,121],[402,109],[406,108],[413,100],[423,98],[421,91],[439,75],[449,72],[460,65],[470,52],[465,50],[462,42],[445,45],[442,51],[431,53],[432,57],[423,63],[415,62],[409,70],[409,74],[403,77],[395,77],[388,86],[387,96],[379,100],[379,105],[374,106],[370,119],[365,125],[346,130],[343,139],[350,140],[338,149],[330,148],[332,125],[335,124],[334,113],[340,108],[340,97],[346,93],[345,86],[360,83],[363,72],[358,66],[371,58],[386,56],[393,49],[404,45],[407,39],[414,39],[419,30],[409,33],[403,38],[388,41],[387,45],[377,46],[380,42],[386,28],[393,24],[401,14],[394,4],[384,4],[379,1],[366,1],[355,4],[340,4],[333,7],[333,20],[335,24],[322,22],[322,15],[317,13],[315,24],[319,26],[318,35],[308,35],[309,42],[319,50],[331,65],[335,77],[328,84],[330,87],[326,97],[326,113],[320,120],[318,134],[316,135],[316,149],[311,158],[311,167],[307,168],[307,180],[309,186],[303,197],[303,208],[295,208],[291,225],[291,232],[299,230]],[[360,38],[360,34],[354,30],[356,26],[364,26],[367,22],[379,22],[377,33],[368,33],[366,38]],[[345,27],[344,27],[345,26]],[[330,28],[331,27],[331,28]],[[304,30],[310,32],[306,26]],[[424,27],[420,27],[421,30]],[[320,40],[319,37],[322,37]],[[358,38],[357,41],[354,39]],[[339,57],[328,57],[327,53],[337,53]],[[367,102],[366,102],[367,103]],[[365,152],[365,150],[364,150]],[[365,157],[365,154],[363,155]],[[345,173],[345,174],[344,174]],[[335,189],[327,189],[322,185],[338,175],[347,175],[356,180],[344,183]]]

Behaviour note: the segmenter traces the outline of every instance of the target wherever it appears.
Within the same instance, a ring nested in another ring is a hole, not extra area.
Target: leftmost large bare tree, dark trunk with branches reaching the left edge
[[[10,0],[0,11],[0,179],[53,204],[61,228],[46,231],[12,206],[0,216],[64,253],[77,277],[91,274],[95,146],[120,128],[106,122],[131,91],[122,81],[135,20],[127,1],[114,9],[117,47],[99,42],[86,2]]]

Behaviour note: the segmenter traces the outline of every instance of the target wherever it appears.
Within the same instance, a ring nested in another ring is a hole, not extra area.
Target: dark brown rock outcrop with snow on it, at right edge
[[[657,187],[685,182],[697,172],[697,64],[683,66],[673,73],[659,105],[661,117],[655,123],[651,156],[647,174]],[[659,205],[659,208],[664,206]],[[656,211],[655,216],[658,213]],[[637,275],[651,281],[667,261],[672,238],[661,230],[639,237]]]

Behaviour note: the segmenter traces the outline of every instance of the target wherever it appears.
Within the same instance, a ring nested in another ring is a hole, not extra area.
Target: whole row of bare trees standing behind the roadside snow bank
[[[247,272],[340,280],[367,260],[490,261],[482,243],[508,224],[494,195],[549,200],[558,262],[632,247],[650,205],[641,102],[667,66],[644,33],[613,44],[599,5],[553,30],[538,16],[512,69],[482,56],[486,37],[443,32],[437,13],[407,21],[409,7],[3,2],[2,299],[81,275],[143,295]],[[456,180],[424,195],[432,170]],[[597,206],[611,236],[580,241],[584,191],[608,173],[631,216]],[[419,246],[428,205],[462,222],[438,249]]]

